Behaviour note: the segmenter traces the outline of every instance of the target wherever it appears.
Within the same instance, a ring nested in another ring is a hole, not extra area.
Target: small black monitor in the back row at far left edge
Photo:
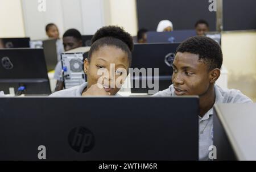
[[[30,48],[29,37],[0,38],[0,48]]]

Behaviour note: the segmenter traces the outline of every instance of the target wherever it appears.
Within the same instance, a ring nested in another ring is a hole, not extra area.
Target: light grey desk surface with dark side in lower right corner
[[[256,160],[256,103],[216,104],[213,144],[217,160]]]

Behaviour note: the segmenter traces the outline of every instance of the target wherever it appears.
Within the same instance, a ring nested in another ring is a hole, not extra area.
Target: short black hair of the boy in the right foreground
[[[198,54],[199,60],[208,65],[209,70],[221,69],[223,57],[221,47],[216,41],[206,36],[193,36],[179,45],[177,52]]]

